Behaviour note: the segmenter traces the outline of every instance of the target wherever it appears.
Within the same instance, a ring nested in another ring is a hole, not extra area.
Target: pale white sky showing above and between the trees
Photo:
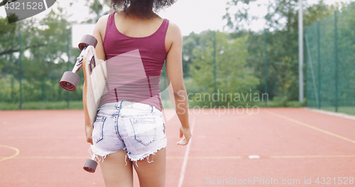
[[[1,1],[1,0],[0,0]],[[102,1],[102,0],[101,0]],[[225,31],[224,26],[226,21],[222,16],[226,14],[226,2],[228,0],[178,0],[173,6],[160,11],[159,16],[168,18],[173,23],[176,23],[182,32],[183,36],[187,36],[192,31],[200,33],[204,30],[219,30]],[[266,14],[265,6],[257,6],[266,0],[259,0],[256,4],[251,6],[251,14],[256,16],[263,16]],[[272,1],[272,0],[271,0]],[[303,0],[308,4],[315,4],[318,0]],[[334,4],[339,0],[324,0],[327,4]],[[351,0],[344,0],[351,1]],[[70,7],[70,2],[73,6]],[[84,21],[89,16],[89,9],[84,5],[84,0],[69,1],[58,0],[57,3],[50,7],[47,11],[37,14],[35,17],[43,18],[48,14],[50,9],[57,9],[58,6],[66,7],[70,21]],[[4,6],[0,7],[0,16],[5,17],[6,12]],[[263,29],[264,22],[259,21],[253,23],[252,30]]]

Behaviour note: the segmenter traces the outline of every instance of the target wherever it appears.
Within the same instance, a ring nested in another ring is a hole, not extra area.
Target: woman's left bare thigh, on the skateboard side
[[[104,176],[105,186],[133,186],[132,162],[126,158],[126,151],[117,151],[106,156],[104,161],[100,161],[102,175]]]

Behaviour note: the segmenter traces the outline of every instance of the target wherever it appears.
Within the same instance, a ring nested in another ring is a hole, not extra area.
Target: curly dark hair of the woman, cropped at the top
[[[177,0],[111,0],[114,11],[124,11],[126,16],[133,14],[141,18],[150,18],[151,11],[158,12],[171,6]],[[130,7],[130,11],[127,9]]]

